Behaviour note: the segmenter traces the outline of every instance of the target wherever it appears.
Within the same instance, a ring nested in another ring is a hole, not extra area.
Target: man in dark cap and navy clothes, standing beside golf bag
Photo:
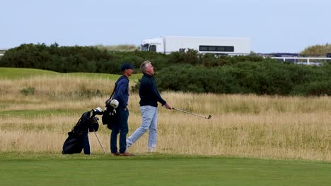
[[[117,87],[112,99],[117,99],[119,102],[117,111],[117,122],[112,126],[110,135],[110,151],[115,156],[134,156],[127,152],[127,132],[129,126],[127,120],[129,118],[129,109],[127,109],[127,101],[129,101],[129,77],[134,72],[134,66],[124,63],[121,70],[123,75],[117,80]],[[120,133],[120,151],[117,151],[117,135]]]

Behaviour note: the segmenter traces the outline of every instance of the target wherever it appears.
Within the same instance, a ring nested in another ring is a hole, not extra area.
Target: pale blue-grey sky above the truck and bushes
[[[248,37],[258,53],[331,44],[330,0],[1,0],[0,49],[140,45],[160,36]]]

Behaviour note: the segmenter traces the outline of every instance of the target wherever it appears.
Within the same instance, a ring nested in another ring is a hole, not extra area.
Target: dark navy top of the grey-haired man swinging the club
[[[140,106],[149,105],[158,107],[158,102],[160,102],[162,105],[165,105],[166,103],[164,99],[162,99],[160,93],[158,93],[153,75],[148,75],[146,73],[144,73],[140,81],[139,97]]]

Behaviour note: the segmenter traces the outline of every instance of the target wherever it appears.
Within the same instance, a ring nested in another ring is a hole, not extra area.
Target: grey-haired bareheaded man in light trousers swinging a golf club
[[[149,130],[148,151],[153,152],[156,148],[156,128],[158,124],[158,102],[165,106],[167,109],[172,109],[170,104],[162,99],[158,93],[156,82],[153,77],[154,68],[151,61],[144,61],[140,66],[141,72],[144,75],[141,78],[139,87],[140,97],[140,112],[141,112],[141,125],[134,133],[127,138],[127,147],[130,147],[136,142],[141,135]]]

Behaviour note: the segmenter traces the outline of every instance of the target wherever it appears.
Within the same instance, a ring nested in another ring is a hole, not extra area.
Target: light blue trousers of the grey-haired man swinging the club
[[[127,147],[136,142],[139,137],[149,130],[149,142],[147,147],[150,151],[156,147],[157,125],[158,125],[158,108],[154,106],[140,106],[141,125],[133,134],[127,138]]]

